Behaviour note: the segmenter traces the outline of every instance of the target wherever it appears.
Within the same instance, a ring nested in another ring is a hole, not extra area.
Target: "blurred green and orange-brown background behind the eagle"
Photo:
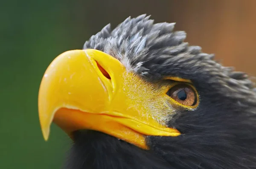
[[[58,169],[70,139],[41,134],[41,78],[59,54],[81,49],[106,24],[151,14],[225,66],[256,75],[256,0],[16,0],[0,3],[0,169]]]

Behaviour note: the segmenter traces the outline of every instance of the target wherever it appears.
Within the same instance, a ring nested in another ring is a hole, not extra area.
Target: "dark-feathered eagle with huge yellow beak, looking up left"
[[[174,26],[128,17],[52,61],[39,118],[73,140],[66,169],[256,169],[253,82]]]

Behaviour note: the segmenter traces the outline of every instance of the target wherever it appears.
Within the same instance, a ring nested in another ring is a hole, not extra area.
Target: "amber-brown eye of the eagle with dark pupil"
[[[195,90],[189,85],[175,85],[167,92],[167,95],[185,106],[194,106],[197,103]]]

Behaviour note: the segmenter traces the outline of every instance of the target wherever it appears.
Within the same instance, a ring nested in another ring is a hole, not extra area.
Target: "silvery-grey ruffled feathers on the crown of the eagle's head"
[[[151,75],[151,79],[170,74],[189,78],[189,72],[208,72],[209,76],[215,76],[218,84],[230,90],[248,94],[254,89],[246,73],[224,67],[213,60],[213,54],[205,54],[201,47],[184,42],[186,33],[173,31],[175,23],[154,24],[149,17],[146,14],[128,17],[113,30],[108,24],[90,37],[83,48],[104,51],[119,59],[127,70],[141,76]],[[186,71],[186,68],[190,69]]]

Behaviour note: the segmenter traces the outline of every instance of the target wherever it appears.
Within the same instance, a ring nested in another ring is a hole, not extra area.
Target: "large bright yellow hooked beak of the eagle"
[[[177,136],[160,124],[153,104],[157,91],[119,60],[94,49],[67,51],[47,68],[38,110],[44,139],[52,121],[72,138],[76,130],[96,130],[148,149],[146,135]]]

